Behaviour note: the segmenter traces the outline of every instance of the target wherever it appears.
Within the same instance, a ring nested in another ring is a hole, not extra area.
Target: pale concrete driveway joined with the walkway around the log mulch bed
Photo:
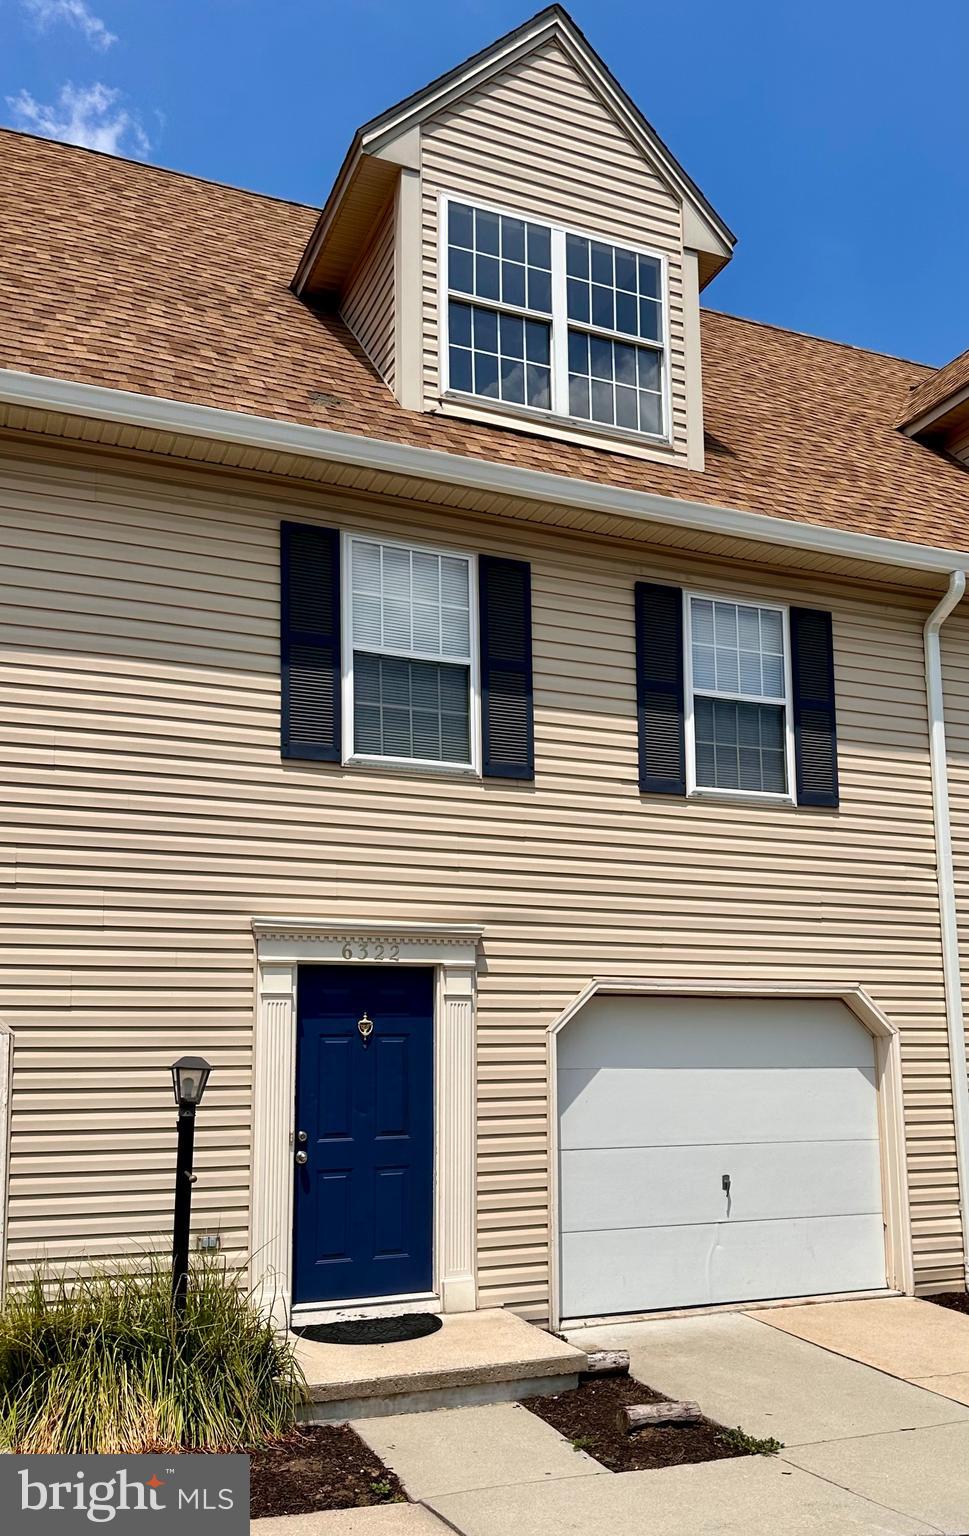
[[[576,1330],[580,1349],[628,1349],[633,1376],[782,1452],[614,1475],[514,1404],[364,1418],[353,1428],[415,1502],[255,1531],[969,1536],[969,1405],[917,1384],[963,1373],[969,1318],[940,1312],[906,1303],[903,1316],[886,1298]]]

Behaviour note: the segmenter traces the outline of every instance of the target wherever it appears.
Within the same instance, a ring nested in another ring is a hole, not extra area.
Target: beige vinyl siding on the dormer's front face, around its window
[[[421,131],[424,392],[439,396],[438,204],[458,192],[668,258],[674,452],[686,452],[682,210],[556,43],[510,65]]]

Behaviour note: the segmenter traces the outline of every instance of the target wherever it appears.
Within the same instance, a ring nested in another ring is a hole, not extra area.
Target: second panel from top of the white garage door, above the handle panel
[[[868,1069],[562,1068],[562,1147],[848,1141],[874,1134],[874,1084],[871,1049]]]

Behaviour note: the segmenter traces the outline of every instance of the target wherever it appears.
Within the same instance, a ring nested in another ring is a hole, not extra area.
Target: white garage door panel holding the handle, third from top
[[[877,1141],[860,1152],[852,1141],[565,1150],[562,1230],[878,1215]]]

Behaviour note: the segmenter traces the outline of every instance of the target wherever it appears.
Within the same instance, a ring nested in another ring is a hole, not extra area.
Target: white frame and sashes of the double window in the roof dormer
[[[471,293],[450,293],[448,284],[448,206],[462,203],[465,207],[479,207],[485,214],[499,214],[505,218],[521,218],[527,224],[542,224],[551,232],[551,315],[541,315],[533,309],[522,309],[518,304],[502,304],[493,300],[479,300]],[[651,257],[659,261],[660,269],[660,338],[656,343],[643,341],[642,336],[630,336],[622,330],[607,330],[600,326],[584,326],[568,319],[568,290],[565,283],[565,237],[577,235],[580,240],[594,240],[607,246],[619,246],[631,250],[637,257]],[[496,313],[522,315],[525,319],[547,319],[550,327],[550,361],[551,361],[551,406],[545,410],[541,406],[516,406],[504,399],[491,399],[488,395],[475,395],[467,390],[450,387],[450,347],[448,347],[448,300],[478,304],[482,309],[493,309]],[[605,421],[593,421],[591,416],[571,416],[568,413],[568,332],[570,327],[587,335],[605,336],[623,346],[647,347],[659,352],[660,356],[660,406],[663,415],[662,432],[634,432],[631,427],[616,427]],[[562,425],[574,432],[585,432],[594,436],[620,438],[625,442],[651,442],[668,447],[673,442],[673,407],[670,398],[670,281],[668,257],[653,246],[637,246],[619,235],[604,235],[580,229],[576,224],[559,224],[541,214],[524,214],[496,203],[482,201],[478,197],[462,192],[441,192],[438,197],[438,378],[441,381],[441,398],[461,401],[499,412],[501,415],[524,416],[534,421],[561,421]]]

